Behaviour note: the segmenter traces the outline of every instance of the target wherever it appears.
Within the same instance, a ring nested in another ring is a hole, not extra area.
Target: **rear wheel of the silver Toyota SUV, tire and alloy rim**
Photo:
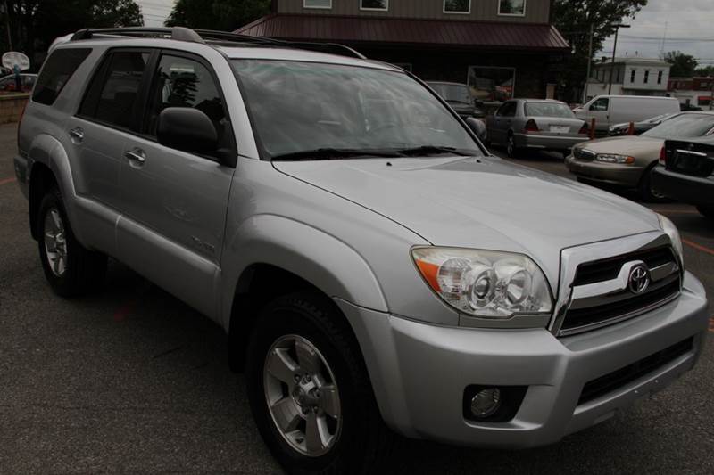
[[[62,297],[95,290],[106,272],[106,256],[87,250],[74,237],[57,188],[42,199],[37,214],[39,257],[47,282]]]

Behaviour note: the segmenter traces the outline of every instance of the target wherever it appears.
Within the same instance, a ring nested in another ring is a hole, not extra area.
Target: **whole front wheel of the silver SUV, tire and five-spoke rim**
[[[247,348],[253,416],[291,473],[372,473],[393,441],[360,349],[332,303],[310,292],[266,307]]]

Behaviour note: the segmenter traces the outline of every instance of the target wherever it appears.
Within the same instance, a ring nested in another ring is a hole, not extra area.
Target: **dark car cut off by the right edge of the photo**
[[[714,137],[668,140],[652,172],[652,187],[677,201],[693,204],[714,220]]]

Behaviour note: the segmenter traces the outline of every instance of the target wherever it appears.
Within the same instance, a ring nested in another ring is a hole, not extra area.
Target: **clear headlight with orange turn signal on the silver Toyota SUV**
[[[552,311],[543,271],[522,254],[415,248],[411,257],[436,295],[467,315],[508,319]]]

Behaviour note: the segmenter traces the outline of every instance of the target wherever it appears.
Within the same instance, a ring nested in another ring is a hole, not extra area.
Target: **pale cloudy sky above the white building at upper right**
[[[620,29],[618,56],[658,58],[664,51],[692,54],[701,66],[714,64],[714,0],[649,0],[632,25]],[[597,56],[612,55],[609,38]],[[664,48],[662,42],[664,40]]]

